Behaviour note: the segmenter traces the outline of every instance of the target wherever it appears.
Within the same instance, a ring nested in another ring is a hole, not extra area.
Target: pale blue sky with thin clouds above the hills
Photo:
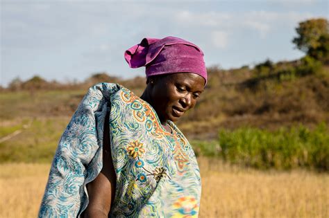
[[[207,66],[294,60],[303,55],[294,28],[313,17],[328,19],[328,1],[1,1],[0,84],[144,75],[128,67],[124,51],[168,35],[200,46]]]

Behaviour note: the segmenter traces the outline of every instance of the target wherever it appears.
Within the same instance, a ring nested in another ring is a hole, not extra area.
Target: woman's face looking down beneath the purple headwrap
[[[205,80],[195,73],[173,73],[150,78],[151,105],[161,122],[175,122],[192,109],[203,92]]]

